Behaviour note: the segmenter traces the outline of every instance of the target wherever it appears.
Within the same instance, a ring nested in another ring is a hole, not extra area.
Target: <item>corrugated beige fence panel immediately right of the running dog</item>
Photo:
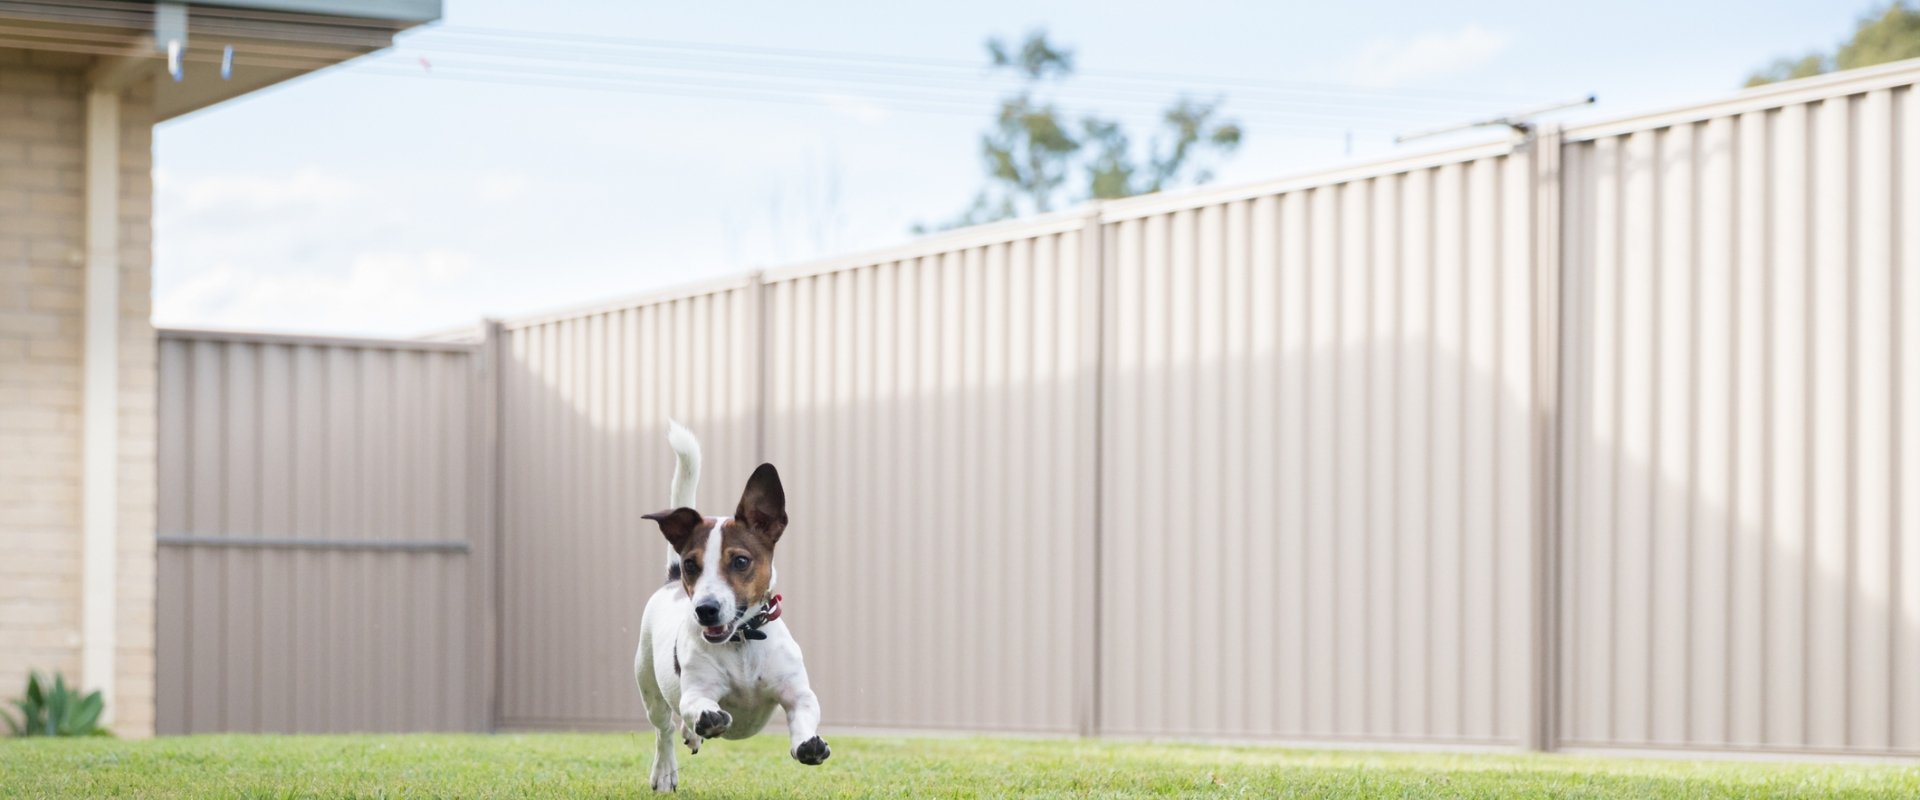
[[[766,284],[780,585],[829,723],[1075,729],[1098,311],[1081,238]]]

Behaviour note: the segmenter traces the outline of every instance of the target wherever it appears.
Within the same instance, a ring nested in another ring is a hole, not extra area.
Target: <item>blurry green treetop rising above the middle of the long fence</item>
[[[1240,146],[1240,127],[1219,119],[1221,100],[1177,98],[1162,113],[1162,129],[1144,152],[1137,152],[1117,121],[1071,119],[1048,96],[1073,75],[1073,52],[1048,42],[1046,31],[1029,33],[1018,48],[989,38],[987,56],[993,69],[1016,73],[1021,86],[1000,100],[993,127],[981,134],[987,186],[960,217],[931,230],[1046,213],[1062,201],[1204,184],[1213,178],[1210,159],[1233,155]],[[1069,184],[1085,190],[1068,190]],[[914,232],[927,230],[914,226]]]

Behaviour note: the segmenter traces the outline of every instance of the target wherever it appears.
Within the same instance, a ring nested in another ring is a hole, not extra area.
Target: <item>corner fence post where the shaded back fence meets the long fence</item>
[[[501,535],[505,528],[503,512],[505,508],[505,437],[501,435],[501,420],[505,420],[501,403],[505,380],[501,370],[507,363],[507,326],[501,320],[490,318],[480,324],[480,363],[474,370],[474,391],[478,393],[478,424],[474,439],[478,443],[480,468],[474,470],[478,491],[474,491],[474,505],[478,510],[478,529],[472,533],[478,541],[470,556],[470,579],[468,585],[478,587],[480,602],[478,608],[478,631],[474,631],[474,641],[480,648],[480,675],[474,675],[478,710],[474,714],[476,721],[482,723],[486,731],[499,729],[499,698],[501,698],[501,637],[499,620],[503,616],[501,604],[505,602],[501,591]]]

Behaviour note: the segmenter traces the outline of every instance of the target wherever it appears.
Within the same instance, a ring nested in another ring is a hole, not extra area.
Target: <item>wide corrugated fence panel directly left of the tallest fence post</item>
[[[1110,215],[1102,731],[1521,741],[1530,186]]]

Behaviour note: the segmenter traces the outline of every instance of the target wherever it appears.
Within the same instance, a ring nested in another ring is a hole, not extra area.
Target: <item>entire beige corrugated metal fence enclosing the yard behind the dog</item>
[[[440,529],[501,553],[449,579],[465,595],[399,583],[470,556],[353,556],[411,558],[380,583],[409,602],[497,602],[467,618],[465,647],[497,647],[449,725],[632,729],[664,568],[639,514],[666,503],[672,414],[707,445],[707,510],[755,462],[781,466],[780,585],[829,725],[1920,754],[1916,77],[1112,201],[493,324],[432,357],[309,355],[359,365],[307,378],[351,414],[205,372],[265,372],[282,345],[169,336],[163,409],[204,418],[163,418],[163,495],[200,497],[180,476],[213,466],[192,464],[255,449],[357,478],[265,495],[284,478],[230,470],[240,516],[171,499],[163,520],[332,535],[292,520],[369,526],[390,480],[459,464],[440,485],[472,493],[436,508],[480,510]],[[382,430],[426,435],[378,403],[430,363],[465,365],[470,412],[434,434],[465,459],[386,478],[313,462],[344,453],[328,435],[371,453]],[[257,411],[205,407],[242,395]],[[250,439],[267,435],[321,439]],[[284,520],[246,516],[269,508]],[[163,729],[259,714],[211,700],[269,652],[230,631],[257,591],[234,587],[257,576],[238,558],[167,547]],[[334,622],[390,608],[301,602]],[[207,631],[227,656],[198,654]],[[167,671],[186,645],[194,670]]]

